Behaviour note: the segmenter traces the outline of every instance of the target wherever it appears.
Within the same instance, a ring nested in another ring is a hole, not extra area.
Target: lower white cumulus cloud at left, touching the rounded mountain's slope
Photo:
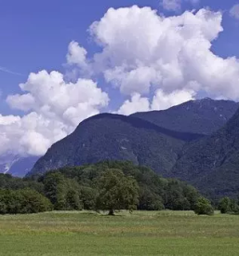
[[[79,122],[99,114],[109,101],[108,95],[92,80],[66,83],[59,72],[30,74],[20,88],[23,93],[9,95],[7,103],[26,115],[0,115],[0,154],[12,151],[20,155],[43,155]]]

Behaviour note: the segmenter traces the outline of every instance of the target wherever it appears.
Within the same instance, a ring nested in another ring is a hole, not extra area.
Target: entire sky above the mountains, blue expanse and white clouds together
[[[239,101],[238,0],[0,0],[0,155],[91,115]]]

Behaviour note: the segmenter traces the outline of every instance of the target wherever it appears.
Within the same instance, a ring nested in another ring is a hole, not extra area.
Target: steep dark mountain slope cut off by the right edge
[[[190,143],[170,176],[211,196],[239,195],[239,110],[210,137]]]

